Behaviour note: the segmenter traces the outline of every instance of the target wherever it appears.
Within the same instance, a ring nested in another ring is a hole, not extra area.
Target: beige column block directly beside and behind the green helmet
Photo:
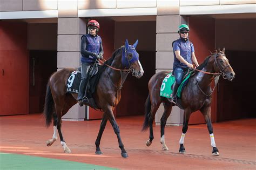
[[[176,33],[180,25],[180,16],[157,16],[157,33]]]

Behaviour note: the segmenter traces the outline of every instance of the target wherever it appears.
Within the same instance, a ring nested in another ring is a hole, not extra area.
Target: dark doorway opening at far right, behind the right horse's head
[[[255,118],[256,83],[253,79],[256,52],[225,51],[225,53],[235,72],[235,79],[233,81],[219,79],[217,121]]]

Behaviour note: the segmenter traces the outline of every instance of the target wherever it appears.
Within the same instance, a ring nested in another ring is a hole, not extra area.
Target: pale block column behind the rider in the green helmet
[[[179,15],[179,1],[157,1],[157,29],[156,29],[156,72],[172,71],[173,49],[172,42],[179,38],[178,26],[185,24],[185,18]],[[161,104],[155,117],[156,124],[160,124],[164,106]],[[183,124],[184,111],[174,106],[167,119],[166,125],[180,126]]]

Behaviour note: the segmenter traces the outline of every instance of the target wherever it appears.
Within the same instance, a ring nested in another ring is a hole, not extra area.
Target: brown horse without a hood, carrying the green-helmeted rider
[[[190,115],[192,112],[200,111],[205,118],[208,131],[210,133],[211,146],[213,147],[212,154],[219,155],[219,151],[215,146],[213,128],[211,122],[211,94],[213,90],[211,89],[211,83],[214,78],[219,78],[221,75],[224,79],[232,81],[235,77],[235,73],[228,63],[228,59],[225,55],[225,49],[222,51],[216,50],[208,56],[204,63],[199,65],[195,71],[196,73],[189,80],[187,85],[181,95],[180,104],[184,108],[184,118],[183,118],[183,128],[182,134],[179,141],[180,153],[185,153],[184,138],[188,128],[188,121],[190,120]],[[147,97],[145,103],[145,120],[143,125],[143,131],[150,127],[150,136],[147,140],[146,145],[150,146],[153,136],[153,120],[159,105],[163,103],[164,113],[161,117],[161,138],[160,142],[163,145],[163,150],[169,150],[165,144],[164,139],[164,128],[166,125],[166,120],[172,111],[172,104],[165,97],[160,97],[160,87],[165,76],[169,72],[162,71],[154,74],[149,81],[149,96]],[[217,84],[217,83],[216,83]],[[214,87],[215,88],[215,87]]]

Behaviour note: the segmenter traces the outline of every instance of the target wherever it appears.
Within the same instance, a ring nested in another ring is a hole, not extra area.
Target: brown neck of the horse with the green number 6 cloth
[[[208,60],[207,64],[203,67],[202,71],[214,73],[214,56]],[[211,86],[212,80],[214,79],[213,74],[206,74],[203,72],[198,72],[196,76],[196,80],[202,89],[204,87]]]

